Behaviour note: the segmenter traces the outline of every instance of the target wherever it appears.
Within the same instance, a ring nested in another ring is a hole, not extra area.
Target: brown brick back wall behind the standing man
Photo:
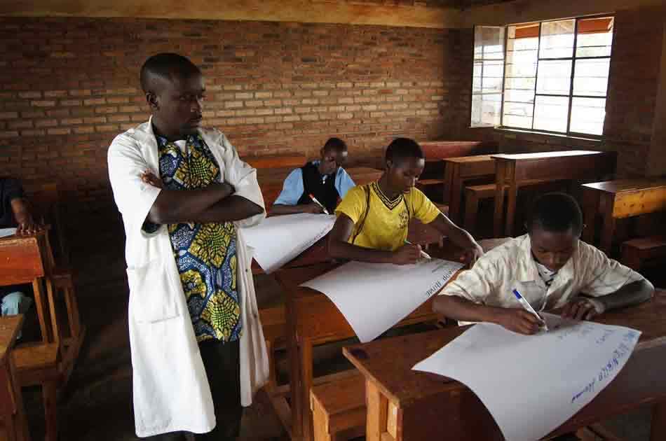
[[[116,134],[148,118],[138,72],[149,55],[181,52],[201,66],[205,124],[241,155],[314,156],[335,135],[363,163],[393,137],[465,127],[470,78],[458,54],[471,53],[470,38],[376,26],[0,18],[1,174],[57,181],[72,246],[87,257],[90,235],[79,232],[91,228],[102,235],[95,248],[118,248],[106,153]]]

